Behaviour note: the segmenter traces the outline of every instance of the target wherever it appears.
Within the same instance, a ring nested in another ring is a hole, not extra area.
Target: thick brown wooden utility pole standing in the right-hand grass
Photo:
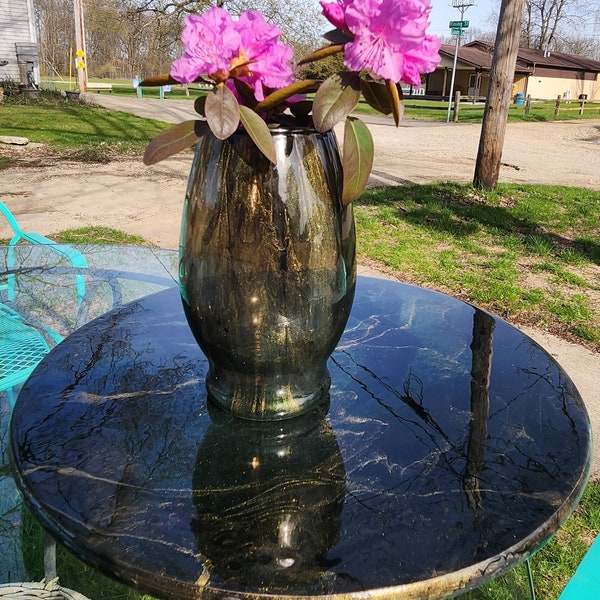
[[[490,84],[473,178],[475,187],[488,191],[498,185],[524,6],[525,0],[502,0],[500,6]]]

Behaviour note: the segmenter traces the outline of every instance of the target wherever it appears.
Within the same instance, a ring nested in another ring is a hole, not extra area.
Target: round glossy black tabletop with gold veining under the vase
[[[159,597],[445,597],[535,552],[589,475],[588,416],[552,357],[418,287],[359,278],[320,412],[235,420],[206,367],[166,290],[56,346],[12,416],[38,519]]]

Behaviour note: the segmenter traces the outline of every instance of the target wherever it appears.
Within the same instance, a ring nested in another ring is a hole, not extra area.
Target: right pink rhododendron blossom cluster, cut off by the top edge
[[[369,71],[395,83],[419,85],[439,64],[439,43],[427,36],[429,0],[338,0],[323,14],[354,36],[344,47],[351,71]]]

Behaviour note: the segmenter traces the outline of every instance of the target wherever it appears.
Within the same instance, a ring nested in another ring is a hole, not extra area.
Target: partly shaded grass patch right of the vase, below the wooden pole
[[[387,187],[355,203],[358,251],[399,278],[600,350],[600,192]]]

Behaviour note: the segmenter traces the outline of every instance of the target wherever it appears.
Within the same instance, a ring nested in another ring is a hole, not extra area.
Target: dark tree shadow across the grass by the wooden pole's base
[[[487,201],[484,193],[466,184],[413,184],[370,190],[358,203],[395,209],[395,216],[406,223],[457,239],[482,232],[511,236],[532,253],[569,251],[574,258],[600,264],[600,243],[594,232],[569,238],[552,231],[552,226],[541,218],[538,221],[521,217],[515,214],[510,190],[509,186],[506,194],[498,192],[493,200]]]

